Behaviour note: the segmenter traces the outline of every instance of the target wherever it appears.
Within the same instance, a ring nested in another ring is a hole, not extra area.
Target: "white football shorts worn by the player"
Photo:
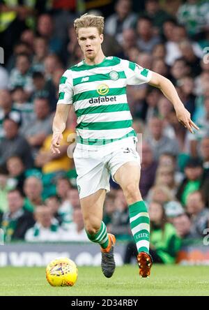
[[[77,144],[73,153],[77,171],[79,198],[98,191],[109,191],[109,178],[124,163],[134,161],[139,164],[140,156],[136,151],[136,137],[128,137],[100,147],[88,147]],[[114,180],[115,181],[115,180]],[[116,182],[116,181],[115,181]]]

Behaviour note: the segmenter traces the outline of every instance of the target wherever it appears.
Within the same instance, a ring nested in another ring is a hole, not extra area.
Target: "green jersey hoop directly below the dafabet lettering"
[[[130,111],[129,105],[127,103],[119,103],[114,105],[100,105],[95,107],[88,107],[85,109],[78,109],[75,111],[77,117],[86,114],[93,113],[108,113],[108,112],[119,112],[119,111]]]

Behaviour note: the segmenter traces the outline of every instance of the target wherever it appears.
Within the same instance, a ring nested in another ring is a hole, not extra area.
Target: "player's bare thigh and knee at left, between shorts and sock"
[[[80,199],[85,224],[90,222],[100,226],[103,215],[105,194],[105,189],[99,189],[95,193]]]

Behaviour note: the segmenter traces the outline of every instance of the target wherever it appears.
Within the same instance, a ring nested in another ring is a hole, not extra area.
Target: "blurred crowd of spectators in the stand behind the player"
[[[49,150],[60,78],[83,57],[73,20],[88,11],[105,17],[104,54],[168,77],[200,128],[189,133],[160,90],[127,87],[132,127],[142,133],[139,188],[150,214],[150,251],[155,262],[173,263],[181,244],[209,227],[209,2],[93,2],[0,1],[0,228],[6,242],[88,242],[67,155],[74,112],[61,153]],[[110,182],[104,223],[128,241],[130,263],[136,249],[128,206]]]

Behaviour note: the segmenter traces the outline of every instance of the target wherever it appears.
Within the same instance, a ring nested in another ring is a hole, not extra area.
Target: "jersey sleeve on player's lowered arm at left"
[[[59,100],[57,102],[58,105],[60,103],[63,103],[65,105],[72,105],[72,76],[68,71],[65,71],[59,82]]]

